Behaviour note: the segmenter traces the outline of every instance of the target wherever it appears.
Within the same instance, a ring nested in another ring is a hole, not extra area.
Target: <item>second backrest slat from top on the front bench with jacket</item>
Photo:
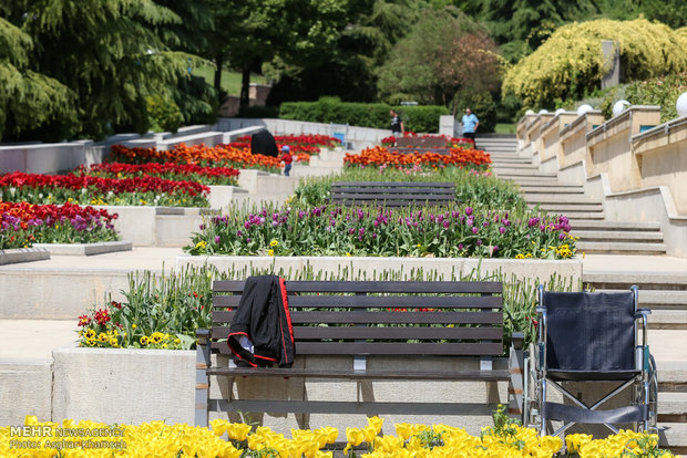
[[[215,295],[216,308],[238,306],[240,295]],[[418,308],[424,309],[501,309],[503,298],[500,295],[294,295],[289,294],[289,309],[340,306],[363,308]]]

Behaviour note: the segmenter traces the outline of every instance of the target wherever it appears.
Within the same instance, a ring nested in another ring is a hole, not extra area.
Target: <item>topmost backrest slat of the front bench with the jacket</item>
[[[240,293],[244,280],[215,280],[214,292]],[[499,281],[286,281],[289,293],[501,294]]]

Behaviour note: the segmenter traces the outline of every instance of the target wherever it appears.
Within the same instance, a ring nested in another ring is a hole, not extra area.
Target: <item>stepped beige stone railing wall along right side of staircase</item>
[[[598,111],[567,125],[529,115],[517,124],[519,153],[584,184],[608,220],[658,221],[668,254],[687,257],[687,117],[659,122],[660,107],[640,105],[606,122]]]

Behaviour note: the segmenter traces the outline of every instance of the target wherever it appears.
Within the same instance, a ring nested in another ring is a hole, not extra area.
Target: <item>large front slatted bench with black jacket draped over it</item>
[[[232,385],[228,398],[211,398],[214,376],[243,382],[242,377],[271,377],[275,383],[298,381],[304,386],[307,378],[358,383],[509,379],[506,368],[492,367],[492,358],[503,354],[501,282],[286,281],[296,342],[294,366],[213,366],[212,354],[232,358],[226,337],[244,283],[213,284],[212,327],[197,332],[197,425],[207,425],[209,412],[490,415],[496,406],[447,403],[441,396],[431,403],[408,402],[407,397],[400,402],[331,400],[329,396],[308,400],[307,394],[287,399],[232,399]]]

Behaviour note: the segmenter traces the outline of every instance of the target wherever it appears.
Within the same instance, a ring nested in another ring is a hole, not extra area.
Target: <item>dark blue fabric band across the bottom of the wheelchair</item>
[[[608,410],[589,410],[564,404],[543,403],[542,414],[546,419],[567,423],[617,424],[645,421],[649,417],[649,409],[647,405],[640,405]]]

